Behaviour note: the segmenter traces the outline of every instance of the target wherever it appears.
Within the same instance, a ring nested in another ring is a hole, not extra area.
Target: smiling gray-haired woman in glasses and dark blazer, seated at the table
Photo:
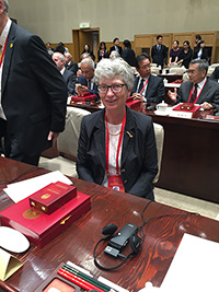
[[[105,108],[82,120],[79,178],[153,200],[158,159],[152,120],[126,106],[132,69],[122,58],[103,59],[95,81]]]

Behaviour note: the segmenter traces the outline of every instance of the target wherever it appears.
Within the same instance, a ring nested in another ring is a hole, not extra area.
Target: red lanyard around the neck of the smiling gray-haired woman
[[[120,128],[120,135],[118,139],[118,147],[117,147],[117,153],[116,153],[116,174],[119,174],[119,168],[118,168],[118,155],[119,155],[119,150],[122,145],[122,139],[123,139],[123,133],[124,133],[124,128],[126,124],[126,113],[124,115],[122,128]],[[105,114],[105,125],[106,125],[106,174],[108,174],[108,156],[110,156],[110,131],[108,131],[108,125],[106,121],[106,114]]]

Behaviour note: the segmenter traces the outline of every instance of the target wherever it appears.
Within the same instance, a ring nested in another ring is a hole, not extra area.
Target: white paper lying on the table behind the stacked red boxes
[[[72,185],[72,182],[59,171],[50,172],[48,174],[39,175],[30,179],[13,183],[7,186],[3,190],[14,201],[19,202],[33,192],[44,188],[50,183],[62,182]]]

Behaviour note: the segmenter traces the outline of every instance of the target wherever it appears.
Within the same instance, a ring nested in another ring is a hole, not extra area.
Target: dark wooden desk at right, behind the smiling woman
[[[164,147],[158,187],[219,202],[219,121],[148,115],[164,127]]]

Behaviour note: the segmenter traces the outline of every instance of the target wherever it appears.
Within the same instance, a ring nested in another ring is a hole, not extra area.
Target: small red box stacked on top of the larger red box
[[[57,182],[34,192],[28,199],[31,207],[46,214],[50,214],[76,196],[76,187]]]

